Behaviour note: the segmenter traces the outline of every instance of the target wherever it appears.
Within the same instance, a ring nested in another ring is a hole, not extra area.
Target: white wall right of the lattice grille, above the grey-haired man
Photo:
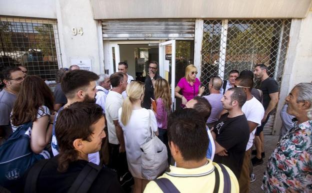
[[[291,21],[290,37],[284,73],[280,86],[277,116],[274,123],[274,133],[279,134],[281,120],[279,111],[284,99],[294,85],[312,81],[312,9],[304,19]]]

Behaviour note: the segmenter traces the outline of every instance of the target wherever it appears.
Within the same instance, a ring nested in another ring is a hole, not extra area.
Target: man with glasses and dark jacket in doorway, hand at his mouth
[[[148,64],[148,76],[145,79],[145,92],[142,107],[145,109],[150,109],[150,98],[154,99],[154,84],[155,80],[161,78],[157,74],[158,62],[150,61]]]

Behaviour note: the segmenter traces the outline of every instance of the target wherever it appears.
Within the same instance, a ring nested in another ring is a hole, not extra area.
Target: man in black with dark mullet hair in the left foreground
[[[29,170],[26,182],[41,167],[35,190],[31,192],[68,192],[76,187],[73,184],[81,177],[81,171],[93,164],[88,163],[88,154],[99,151],[101,147],[102,138],[105,137],[104,126],[102,108],[95,103],[75,102],[59,112],[55,125],[59,154],[43,166],[40,165],[45,160],[37,162]],[[98,174],[91,181],[88,192],[122,192],[115,172],[105,167],[95,168]],[[84,177],[86,179],[79,184],[80,187],[85,187],[84,181],[90,180],[90,175]]]

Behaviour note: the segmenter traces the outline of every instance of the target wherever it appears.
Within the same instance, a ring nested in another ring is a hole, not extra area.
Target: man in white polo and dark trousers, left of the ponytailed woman
[[[127,75],[122,72],[115,72],[110,75],[109,80],[112,89],[108,92],[105,101],[105,116],[108,129],[108,149],[109,149],[109,167],[117,171],[118,177],[124,175],[127,171],[127,162],[125,157],[125,147],[123,132],[118,123],[118,110],[122,105],[123,97],[121,93],[125,91]]]

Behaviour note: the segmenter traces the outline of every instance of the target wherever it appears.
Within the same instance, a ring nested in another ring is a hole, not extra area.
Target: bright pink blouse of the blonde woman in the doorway
[[[186,98],[187,101],[191,100],[198,94],[200,81],[198,78],[195,78],[195,82],[193,86],[191,86],[185,77],[181,78],[180,81],[177,83],[177,86],[181,88],[182,95]]]

